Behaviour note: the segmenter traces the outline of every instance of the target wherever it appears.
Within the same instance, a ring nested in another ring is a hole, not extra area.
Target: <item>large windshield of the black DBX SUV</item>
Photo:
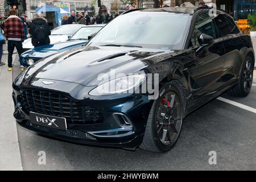
[[[88,45],[182,49],[191,17],[180,13],[134,11],[112,20]]]

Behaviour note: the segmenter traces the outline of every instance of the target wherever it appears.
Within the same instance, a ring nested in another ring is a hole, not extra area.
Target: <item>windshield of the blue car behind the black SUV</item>
[[[97,33],[102,27],[82,27],[71,37],[71,40],[84,39],[88,40],[88,36]]]

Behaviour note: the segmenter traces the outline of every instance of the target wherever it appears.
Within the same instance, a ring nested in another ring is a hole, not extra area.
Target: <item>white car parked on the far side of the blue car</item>
[[[51,31],[51,35],[49,36],[51,44],[64,42],[68,40],[68,36],[75,34],[75,32],[79,30],[81,27],[85,27],[85,25],[84,24],[65,24],[63,26],[54,28]],[[24,51],[34,48],[34,46],[31,43],[31,38],[24,40],[24,42],[22,43],[22,47]]]

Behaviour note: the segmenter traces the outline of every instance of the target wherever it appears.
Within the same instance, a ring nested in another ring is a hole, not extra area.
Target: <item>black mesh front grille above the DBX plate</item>
[[[21,100],[23,109],[27,112],[63,117],[68,124],[88,125],[104,121],[104,117],[97,109],[77,104],[58,93],[24,90]]]

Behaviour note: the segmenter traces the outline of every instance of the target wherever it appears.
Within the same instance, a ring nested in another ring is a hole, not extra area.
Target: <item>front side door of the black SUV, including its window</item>
[[[193,87],[193,105],[201,105],[204,101],[210,100],[214,94],[223,85],[221,76],[224,71],[225,64],[225,49],[222,40],[218,38],[216,24],[213,21],[214,17],[209,15],[209,11],[200,11],[195,20],[193,33],[191,36],[191,46],[193,49],[196,68],[196,83]],[[198,52],[198,38],[201,34],[207,34],[214,38],[214,43],[204,46]],[[193,48],[195,47],[195,48]]]

